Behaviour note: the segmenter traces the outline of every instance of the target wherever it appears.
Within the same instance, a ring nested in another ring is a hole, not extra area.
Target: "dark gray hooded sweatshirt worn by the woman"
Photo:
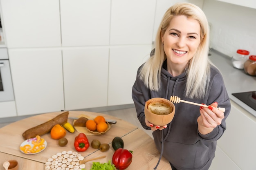
[[[141,66],[138,69],[138,73]],[[153,137],[161,156],[164,156],[177,170],[208,170],[214,158],[216,141],[226,129],[226,118],[230,112],[230,100],[222,75],[217,68],[211,66],[211,81],[206,96],[202,99],[190,99],[184,96],[186,86],[185,73],[173,77],[167,71],[166,61],[161,69],[161,84],[159,91],[150,91],[139,79],[132,87],[132,99],[135,104],[137,117],[143,128],[150,130],[145,124],[144,105],[148,99],[162,97],[170,99],[171,95],[182,100],[199,104],[218,102],[218,107],[225,108],[225,118],[222,124],[207,135],[198,131],[197,119],[200,116],[200,106],[182,103],[175,105],[173,121],[164,130],[155,130]],[[161,159],[161,156],[159,159]]]

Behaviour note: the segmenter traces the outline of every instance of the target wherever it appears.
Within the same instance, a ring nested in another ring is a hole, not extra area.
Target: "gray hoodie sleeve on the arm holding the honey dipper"
[[[217,69],[211,69],[211,81],[209,84],[209,94],[207,105],[212,104],[213,102],[218,102],[218,107],[225,108],[224,119],[220,125],[213,129],[212,132],[206,135],[200,134],[198,131],[199,137],[205,141],[217,141],[226,130],[226,119],[231,110],[230,99],[225,88],[225,84],[222,78],[221,73]]]

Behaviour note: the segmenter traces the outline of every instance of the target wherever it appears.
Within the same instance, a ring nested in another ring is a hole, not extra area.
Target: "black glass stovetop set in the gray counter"
[[[256,110],[256,91],[232,93],[236,98]]]

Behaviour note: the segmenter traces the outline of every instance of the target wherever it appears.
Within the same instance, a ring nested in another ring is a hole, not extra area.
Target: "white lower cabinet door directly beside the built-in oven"
[[[9,50],[17,114],[64,110],[60,49]]]

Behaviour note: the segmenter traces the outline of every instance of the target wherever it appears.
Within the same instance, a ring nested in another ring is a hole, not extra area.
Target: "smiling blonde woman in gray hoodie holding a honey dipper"
[[[155,42],[132,87],[137,117],[143,128],[153,130],[159,161],[164,156],[173,170],[208,170],[216,141],[226,129],[230,101],[221,73],[208,58],[207,18],[194,4],[175,4],[164,14]],[[145,102],[172,95],[209,107],[179,103],[170,124],[160,127],[148,122]]]

